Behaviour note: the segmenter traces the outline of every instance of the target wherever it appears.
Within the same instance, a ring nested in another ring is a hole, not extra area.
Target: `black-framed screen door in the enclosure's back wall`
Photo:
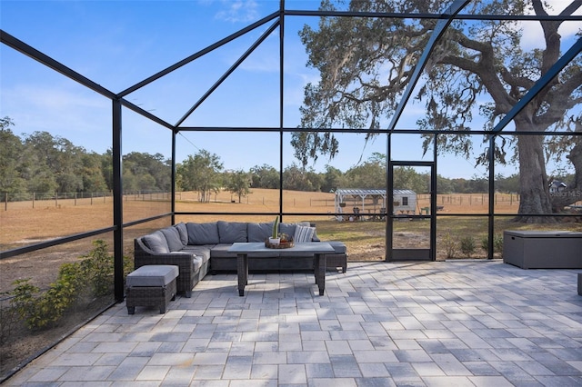
[[[386,261],[435,261],[435,164],[389,162]]]

